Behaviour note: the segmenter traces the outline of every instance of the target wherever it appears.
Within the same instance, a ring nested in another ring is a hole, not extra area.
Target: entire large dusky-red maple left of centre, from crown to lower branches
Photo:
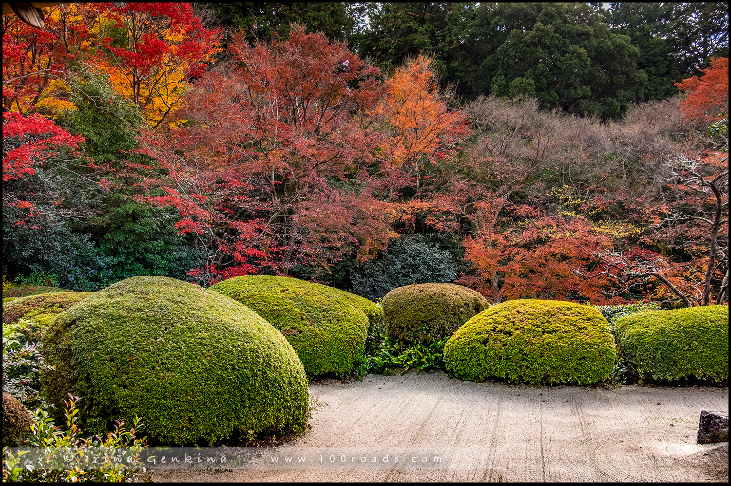
[[[342,238],[362,244],[358,254],[381,248],[388,232],[363,221],[381,217],[379,202],[328,185],[377,162],[382,137],[363,112],[379,98],[378,70],[302,27],[274,45],[238,34],[229,49],[227,72],[208,72],[190,93],[186,124],[145,142],[174,178],[150,200],[177,207],[178,229],[200,236],[208,281],[224,270],[286,274],[309,259],[327,261],[328,248],[338,259]],[[322,234],[333,239],[318,243]]]

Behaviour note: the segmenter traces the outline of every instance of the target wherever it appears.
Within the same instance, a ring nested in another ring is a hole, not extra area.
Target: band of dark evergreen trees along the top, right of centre
[[[419,53],[466,100],[537,96],[543,109],[621,118],[728,56],[725,3],[367,4],[352,43],[390,73]]]

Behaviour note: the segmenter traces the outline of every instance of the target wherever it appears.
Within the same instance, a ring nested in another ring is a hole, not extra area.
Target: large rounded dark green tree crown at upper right
[[[588,4],[480,4],[480,91],[537,96],[542,109],[621,118],[644,99],[640,50]]]

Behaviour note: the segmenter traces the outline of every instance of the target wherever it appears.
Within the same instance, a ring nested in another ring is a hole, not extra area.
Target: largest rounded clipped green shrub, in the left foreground
[[[58,410],[82,397],[86,432],[143,417],[164,443],[306,425],[308,383],[281,333],[240,303],[167,277],[132,277],[58,314],[42,373]]]

